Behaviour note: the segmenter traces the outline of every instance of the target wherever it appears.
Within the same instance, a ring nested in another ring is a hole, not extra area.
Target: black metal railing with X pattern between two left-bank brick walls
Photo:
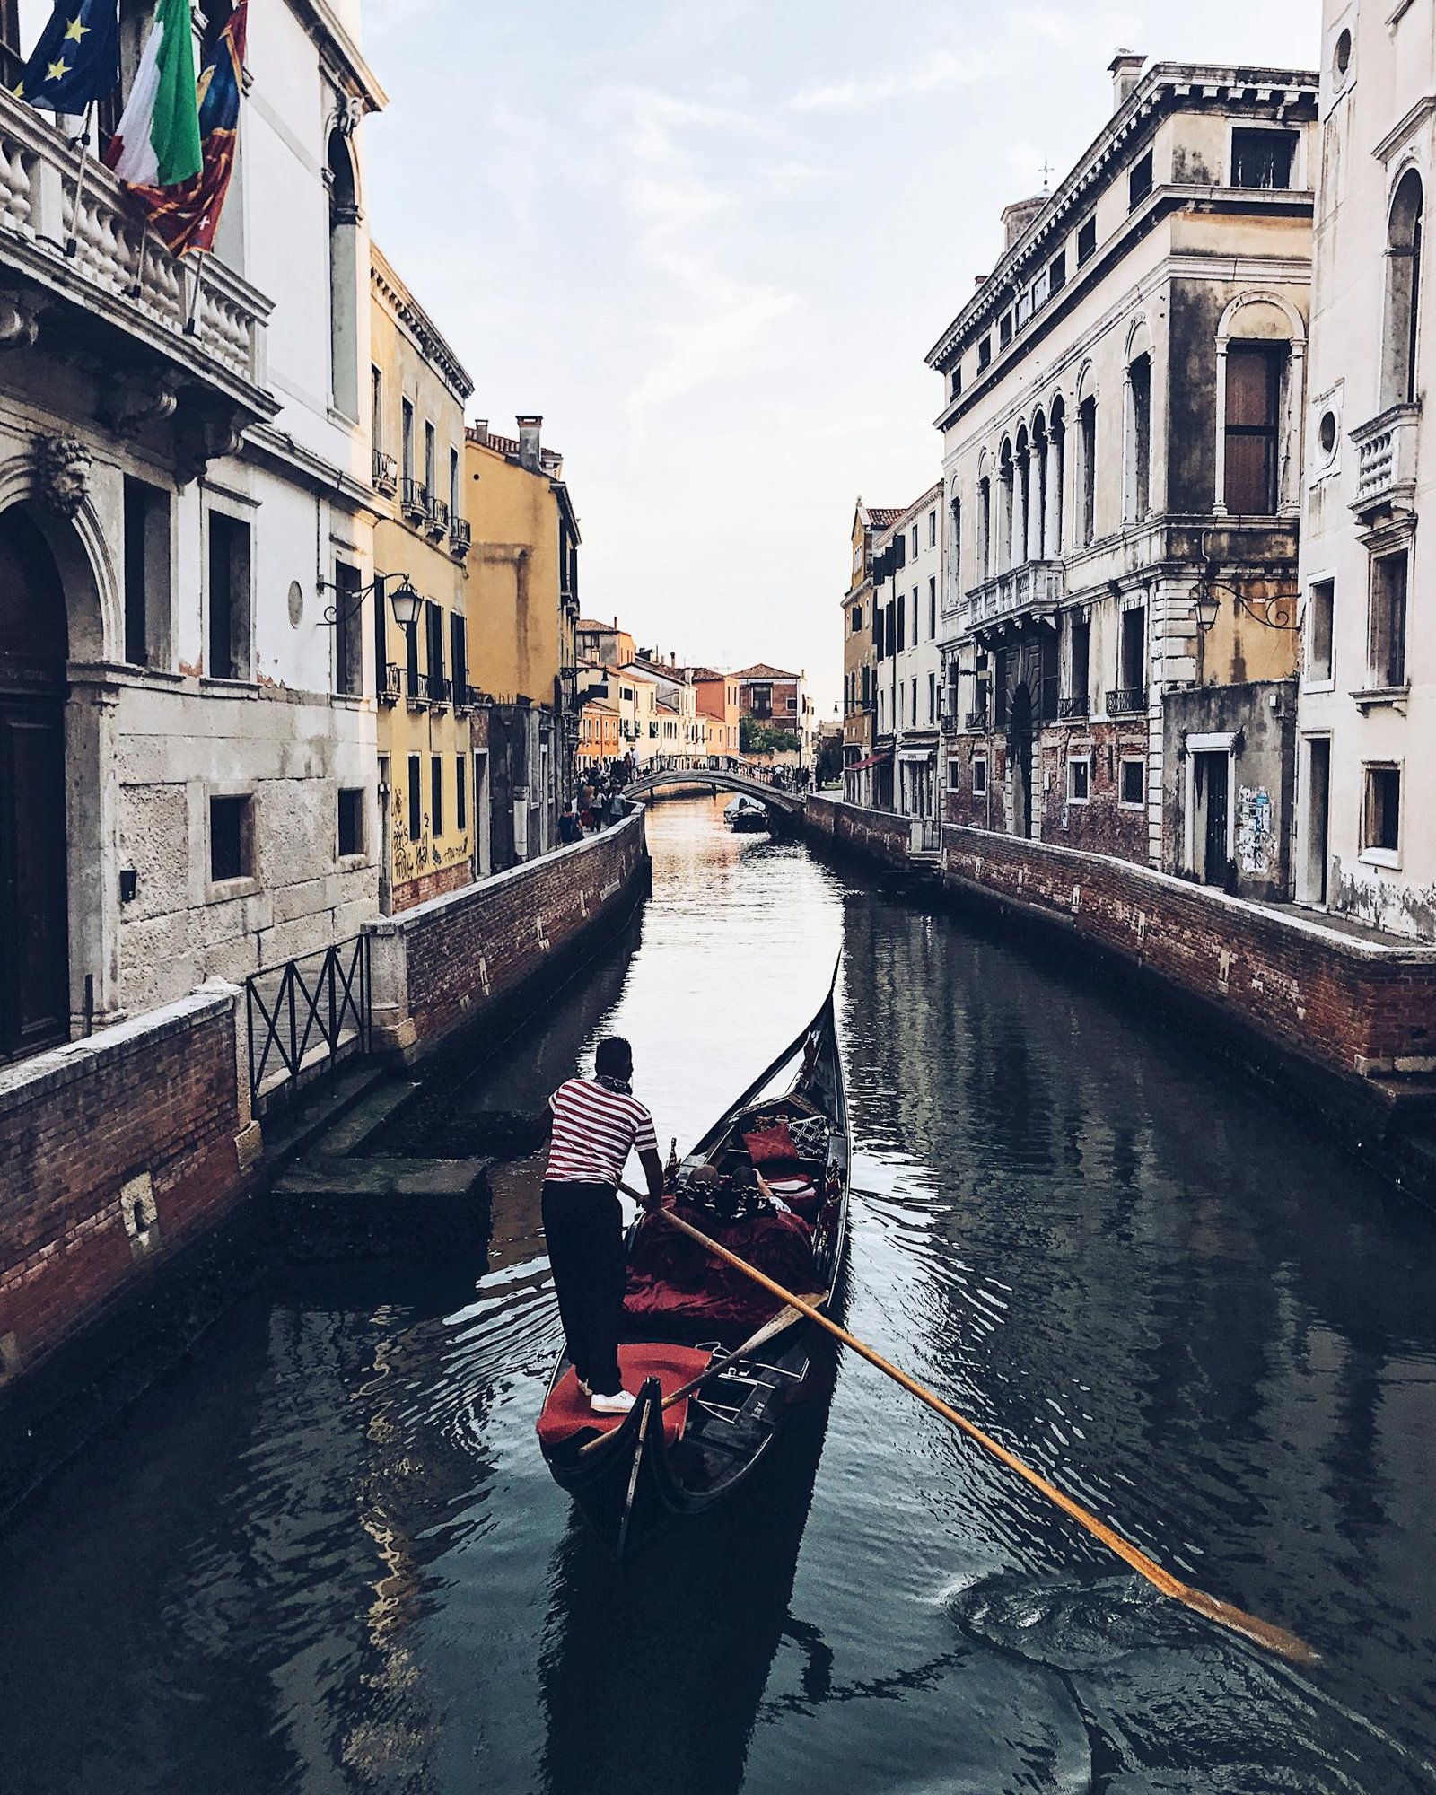
[[[250,1097],[267,1100],[300,1073],[366,1054],[370,1002],[368,935],[251,973],[244,980]]]

